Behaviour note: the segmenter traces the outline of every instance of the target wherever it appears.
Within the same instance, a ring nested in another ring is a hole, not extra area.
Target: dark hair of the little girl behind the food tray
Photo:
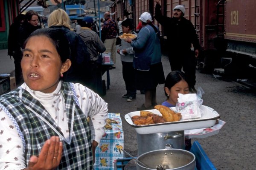
[[[180,80],[186,81],[185,74],[181,71],[172,71],[167,75],[164,87],[171,89],[172,86],[174,86],[177,82],[180,82]],[[166,91],[164,91],[164,93],[167,96]]]

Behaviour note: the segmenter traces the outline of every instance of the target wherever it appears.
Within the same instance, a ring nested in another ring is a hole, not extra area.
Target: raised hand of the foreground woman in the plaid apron
[[[29,165],[24,170],[55,170],[60,164],[62,149],[59,137],[52,136],[44,143],[38,157],[30,157]]]

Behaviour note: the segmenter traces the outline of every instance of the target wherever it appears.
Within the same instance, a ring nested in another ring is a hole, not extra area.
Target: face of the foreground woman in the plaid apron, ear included
[[[67,71],[70,65],[69,59],[61,62],[55,46],[45,36],[31,37],[21,60],[26,85],[43,93],[51,93],[57,88],[61,73]]]

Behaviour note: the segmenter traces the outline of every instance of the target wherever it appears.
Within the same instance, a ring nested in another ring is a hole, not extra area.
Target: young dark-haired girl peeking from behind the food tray
[[[170,72],[165,80],[164,92],[167,100],[162,103],[166,107],[175,107],[178,101],[178,94],[189,94],[189,85],[186,82],[185,74],[181,71]],[[190,150],[191,139],[185,137],[185,150]]]

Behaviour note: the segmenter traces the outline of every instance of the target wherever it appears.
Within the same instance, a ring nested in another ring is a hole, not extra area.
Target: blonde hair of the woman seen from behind
[[[48,26],[65,26],[70,30],[73,30],[70,26],[70,18],[68,14],[61,8],[52,11],[49,15]]]

